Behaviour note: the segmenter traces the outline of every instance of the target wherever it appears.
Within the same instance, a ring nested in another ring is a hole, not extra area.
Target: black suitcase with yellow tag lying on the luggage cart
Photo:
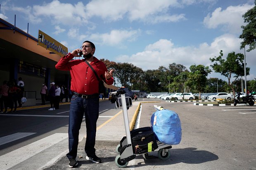
[[[144,154],[158,148],[154,131],[150,127],[142,127],[130,131],[133,153]]]

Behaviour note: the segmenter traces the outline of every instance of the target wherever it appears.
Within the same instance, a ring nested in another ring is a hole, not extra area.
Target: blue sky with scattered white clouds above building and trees
[[[95,43],[95,56],[128,62],[144,71],[169,64],[210,66],[209,58],[239,46],[242,15],[254,0],[0,0],[0,18],[38,37],[38,30],[69,51],[83,41]],[[248,49],[248,47],[247,47]],[[246,53],[256,77],[256,50]],[[210,67],[211,68],[211,67]],[[219,73],[210,77],[223,80]]]

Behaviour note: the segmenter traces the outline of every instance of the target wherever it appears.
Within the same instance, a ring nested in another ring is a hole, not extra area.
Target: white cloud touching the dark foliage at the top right
[[[221,26],[225,32],[239,33],[242,30],[241,25],[244,25],[242,15],[252,7],[254,5],[249,4],[229,6],[224,10],[218,7],[204,18],[204,25],[212,29]]]

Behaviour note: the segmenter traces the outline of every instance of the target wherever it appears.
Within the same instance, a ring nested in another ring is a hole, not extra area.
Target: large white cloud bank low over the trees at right
[[[211,44],[202,43],[198,47],[176,47],[171,40],[160,39],[154,44],[146,46],[145,50],[142,52],[131,56],[120,55],[116,57],[115,61],[129,62],[143,70],[158,69],[159,66],[168,67],[168,65],[173,62],[183,64],[187,69],[189,69],[192,64],[203,64],[210,67],[212,63],[209,58],[218,56],[220,50],[223,50],[224,57],[232,51],[244,54],[244,51],[239,49],[240,42],[241,39],[232,34],[223,34],[214,39]],[[256,75],[256,68],[253,67],[253,63],[256,63],[255,52],[256,50],[246,54],[247,66],[251,68],[250,77],[255,77]]]

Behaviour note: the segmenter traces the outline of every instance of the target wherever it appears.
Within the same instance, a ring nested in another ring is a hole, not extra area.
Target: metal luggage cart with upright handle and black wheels
[[[134,146],[132,145],[132,138],[130,134],[130,126],[129,126],[128,112],[127,112],[127,104],[126,104],[128,103],[130,107],[132,106],[132,102],[129,99],[129,97],[125,96],[125,93],[126,91],[122,89],[109,93],[109,94],[121,94],[121,97],[119,97],[116,100],[116,108],[123,109],[123,119],[124,119],[125,131],[126,131],[126,136],[124,136],[120,141],[120,144],[116,146],[116,152],[119,155],[116,156],[115,163],[119,168],[125,168],[128,165],[128,162],[135,159],[136,156],[142,155],[144,159],[149,158],[149,152],[146,152],[143,154],[134,153],[134,150],[133,150]],[[161,143],[159,141],[157,141],[157,146],[158,148],[156,150],[158,150],[159,159],[167,160],[171,155],[169,149],[171,149],[172,146]]]

